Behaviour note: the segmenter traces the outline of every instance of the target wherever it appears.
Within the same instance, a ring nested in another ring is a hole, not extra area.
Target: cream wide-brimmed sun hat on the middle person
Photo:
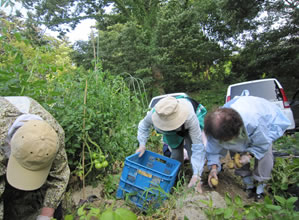
[[[167,96],[156,105],[152,114],[153,124],[163,131],[172,131],[179,128],[186,121],[189,109],[183,99]]]

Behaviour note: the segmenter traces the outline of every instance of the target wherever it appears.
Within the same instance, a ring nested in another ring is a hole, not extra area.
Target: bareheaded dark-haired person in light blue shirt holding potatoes
[[[241,153],[235,173],[242,176],[249,197],[262,198],[265,181],[273,168],[272,143],[281,137],[290,121],[279,107],[266,99],[239,96],[205,117],[207,160],[211,169],[208,182],[218,179],[220,158],[227,150]],[[250,159],[255,158],[254,170]],[[257,184],[255,184],[255,182]]]

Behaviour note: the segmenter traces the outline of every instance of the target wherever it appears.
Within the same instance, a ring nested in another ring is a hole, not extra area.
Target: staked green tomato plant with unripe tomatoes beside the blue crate
[[[68,89],[61,91],[63,99],[56,100],[53,114],[66,133],[71,169],[91,183],[107,171],[115,172],[115,161],[135,151],[142,105],[123,78],[102,72],[100,64],[96,70],[78,69],[60,80],[57,89]]]

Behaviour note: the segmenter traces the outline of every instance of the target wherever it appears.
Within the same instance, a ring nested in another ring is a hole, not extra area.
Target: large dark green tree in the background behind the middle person
[[[228,52],[221,49],[217,42],[220,38],[207,35],[203,27],[207,22],[203,17],[205,8],[189,1],[154,2],[142,18],[144,4],[118,1],[117,9],[98,22],[103,68],[141,78],[158,93],[164,89],[191,89],[187,86],[190,82],[197,89],[196,82],[210,78],[209,68],[215,62],[221,63]],[[123,15],[127,15],[127,21],[120,24]],[[90,54],[92,44],[88,45],[84,54]]]

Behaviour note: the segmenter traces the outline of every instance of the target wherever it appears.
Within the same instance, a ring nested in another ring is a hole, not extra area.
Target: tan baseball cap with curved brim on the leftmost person
[[[13,135],[7,181],[20,190],[40,188],[58,151],[58,135],[45,121],[29,120]]]

